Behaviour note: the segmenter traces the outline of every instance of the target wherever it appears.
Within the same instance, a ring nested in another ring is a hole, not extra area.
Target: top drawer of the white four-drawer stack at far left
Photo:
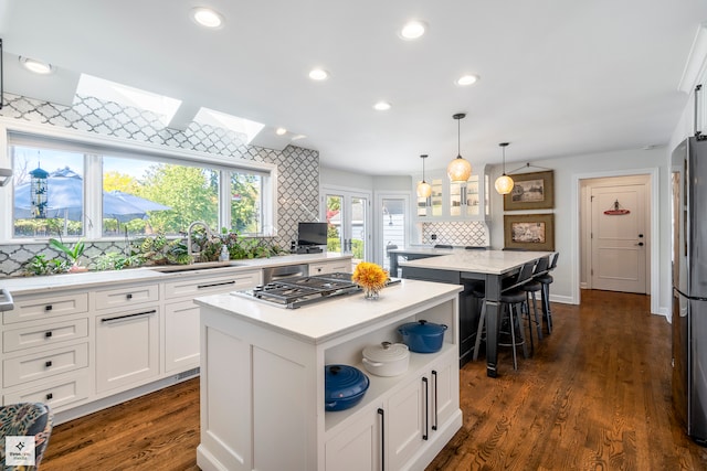
[[[51,319],[88,311],[88,293],[15,299],[14,309],[2,315],[3,324]]]

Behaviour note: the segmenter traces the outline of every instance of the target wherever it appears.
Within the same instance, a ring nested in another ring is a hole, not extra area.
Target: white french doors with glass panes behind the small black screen
[[[323,188],[328,224],[327,251],[352,254],[354,264],[370,259],[370,193]]]

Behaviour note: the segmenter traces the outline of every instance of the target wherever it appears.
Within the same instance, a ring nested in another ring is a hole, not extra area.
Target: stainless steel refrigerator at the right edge
[[[672,156],[673,403],[687,435],[707,446],[707,140]]]

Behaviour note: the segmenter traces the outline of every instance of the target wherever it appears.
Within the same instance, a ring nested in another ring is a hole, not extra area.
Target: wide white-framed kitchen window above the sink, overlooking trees
[[[0,194],[9,210],[0,216],[3,239],[178,236],[194,221],[214,232],[273,235],[272,164],[12,132],[7,149],[13,178]]]

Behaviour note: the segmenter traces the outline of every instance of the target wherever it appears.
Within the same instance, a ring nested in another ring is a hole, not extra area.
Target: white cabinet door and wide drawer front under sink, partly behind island
[[[226,276],[191,277],[165,283],[165,371],[183,372],[199,366],[199,307],[197,296],[253,288],[262,282],[262,270]],[[173,302],[172,302],[173,301]]]

